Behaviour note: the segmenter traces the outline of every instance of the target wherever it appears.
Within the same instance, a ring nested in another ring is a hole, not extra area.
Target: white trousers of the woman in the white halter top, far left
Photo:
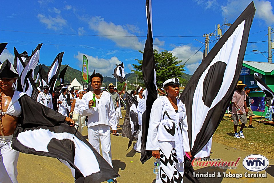
[[[19,152],[11,148],[13,135],[0,136],[0,183],[17,182]]]

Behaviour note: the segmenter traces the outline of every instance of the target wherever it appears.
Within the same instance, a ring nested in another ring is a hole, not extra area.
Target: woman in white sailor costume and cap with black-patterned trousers
[[[179,79],[163,83],[167,96],[160,96],[152,105],[146,150],[160,159],[156,183],[183,182],[184,155],[190,157],[186,107],[179,95]]]

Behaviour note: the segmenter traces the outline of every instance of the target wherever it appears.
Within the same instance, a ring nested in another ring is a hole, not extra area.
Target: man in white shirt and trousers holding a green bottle
[[[117,132],[117,122],[112,98],[108,92],[101,91],[103,76],[94,73],[90,76],[93,91],[84,94],[80,105],[81,116],[88,116],[88,142],[100,153],[100,142],[103,158],[112,166],[110,148],[110,127],[113,135]],[[95,94],[96,106],[91,107],[93,94]]]

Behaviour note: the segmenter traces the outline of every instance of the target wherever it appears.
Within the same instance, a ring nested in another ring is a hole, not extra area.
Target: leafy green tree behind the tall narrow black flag
[[[140,53],[144,53],[143,51],[140,51]],[[143,78],[142,74],[142,63],[143,60],[138,60],[137,64],[133,64],[134,68],[136,69],[134,71],[139,78]],[[155,70],[156,70],[156,80],[157,80],[157,86],[162,87],[162,84],[164,81],[166,81],[169,78],[172,77],[181,77],[185,69],[185,65],[178,65],[182,62],[182,60],[178,60],[178,57],[173,56],[172,52],[168,52],[167,50],[162,51],[159,53],[156,49],[154,49],[154,60],[155,60]],[[180,79],[181,80],[181,79]]]

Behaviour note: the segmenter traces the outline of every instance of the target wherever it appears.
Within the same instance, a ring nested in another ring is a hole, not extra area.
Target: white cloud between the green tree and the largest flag
[[[171,52],[178,57],[178,60],[182,60],[180,64],[185,63],[198,49],[194,49],[190,45],[181,45],[178,47],[175,47]],[[198,51],[191,59],[188,60],[186,65],[190,65],[193,63],[197,63],[202,61],[203,58],[203,52]]]

